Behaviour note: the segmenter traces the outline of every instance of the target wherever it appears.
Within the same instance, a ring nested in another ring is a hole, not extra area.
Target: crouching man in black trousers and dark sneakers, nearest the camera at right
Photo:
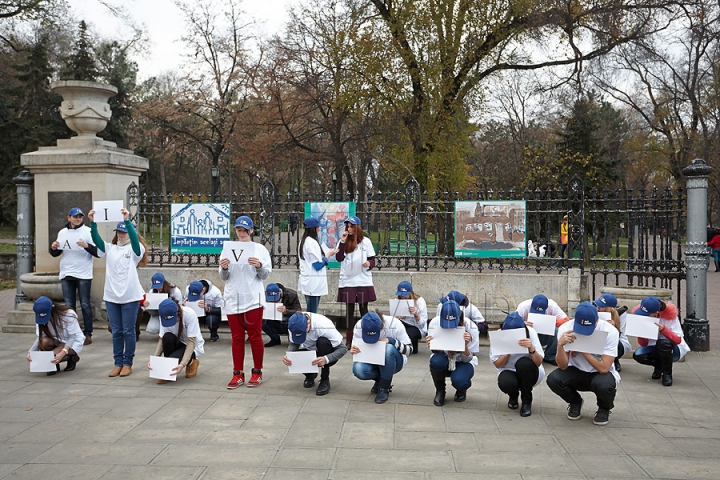
[[[602,355],[565,351],[576,335],[592,335],[596,330],[607,332]],[[575,309],[575,321],[566,322],[558,330],[558,368],[548,375],[547,384],[556,395],[568,403],[567,417],[579,420],[583,398],[578,392],[593,392],[597,397],[595,425],[607,425],[614,407],[620,375],[613,360],[617,356],[618,331],[608,322],[598,320],[597,308],[582,302]]]

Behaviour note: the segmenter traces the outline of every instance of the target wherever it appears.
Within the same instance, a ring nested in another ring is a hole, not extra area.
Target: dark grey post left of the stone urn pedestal
[[[20,289],[20,276],[34,269],[35,260],[35,202],[33,184],[35,178],[28,170],[23,170],[13,178],[18,193],[18,233],[17,233],[17,290],[15,293],[15,309],[19,303],[29,302]]]

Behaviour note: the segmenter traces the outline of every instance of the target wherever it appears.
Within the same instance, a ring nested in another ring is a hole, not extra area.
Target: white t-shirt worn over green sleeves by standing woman
[[[112,303],[130,303],[142,300],[143,291],[137,274],[137,265],[145,254],[140,244],[140,255],[135,255],[132,245],[113,245],[105,242],[105,251],[98,248],[98,255],[107,259],[105,265],[105,293],[103,300]]]

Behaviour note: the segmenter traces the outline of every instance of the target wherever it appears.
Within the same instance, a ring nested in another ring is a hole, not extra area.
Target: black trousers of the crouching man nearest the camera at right
[[[547,379],[548,387],[567,403],[580,403],[582,396],[578,392],[593,392],[597,397],[597,406],[612,410],[615,406],[616,382],[612,373],[583,372],[577,367],[554,370]]]

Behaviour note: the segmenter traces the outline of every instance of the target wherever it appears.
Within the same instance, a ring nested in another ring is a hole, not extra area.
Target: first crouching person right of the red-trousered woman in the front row
[[[295,313],[288,320],[288,338],[288,352],[317,352],[318,356],[312,363],[322,370],[315,394],[323,396],[330,393],[330,367],[347,353],[342,335],[333,321],[317,313]],[[292,365],[287,355],[283,356],[283,363],[288,367]],[[316,378],[317,373],[306,373],[303,387],[312,388]]]

